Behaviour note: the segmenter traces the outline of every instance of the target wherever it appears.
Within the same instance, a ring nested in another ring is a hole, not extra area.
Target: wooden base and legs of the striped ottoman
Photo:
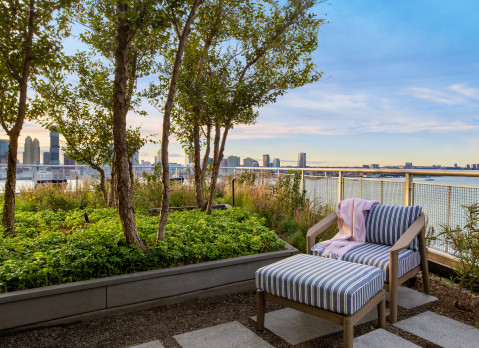
[[[386,326],[386,292],[381,289],[374,295],[364,306],[362,306],[356,313],[351,315],[344,315],[330,312],[317,307],[309,306],[303,303],[291,301],[279,296],[275,296],[264,292],[262,290],[256,291],[256,328],[259,331],[264,330],[264,309],[266,301],[274,302],[285,307],[294,308],[304,313],[312,314],[320,318],[326,319],[336,324],[343,325],[343,340],[344,347],[353,347],[354,338],[354,324],[356,324],[362,317],[369,313],[369,311],[377,306],[378,308],[378,326],[384,328]]]

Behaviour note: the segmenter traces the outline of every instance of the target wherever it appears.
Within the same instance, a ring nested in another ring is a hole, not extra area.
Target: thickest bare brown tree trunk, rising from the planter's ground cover
[[[115,151],[115,170],[118,197],[118,213],[120,215],[123,233],[128,244],[137,245],[141,251],[148,248],[141,241],[136,228],[135,214],[132,205],[132,192],[129,177],[128,147],[126,143],[126,114],[128,81],[128,50],[131,40],[128,25],[128,2],[118,0],[117,9],[117,36],[115,49],[115,82],[113,90],[113,140]],[[120,16],[120,14],[124,16]]]

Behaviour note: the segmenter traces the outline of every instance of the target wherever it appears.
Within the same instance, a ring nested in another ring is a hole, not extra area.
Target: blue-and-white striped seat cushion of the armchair
[[[313,248],[311,253],[321,256]],[[389,245],[365,243],[347,252],[343,256],[343,260],[378,267],[384,271],[384,282],[389,283],[389,249],[391,249]],[[401,250],[398,256],[398,278],[419,266],[420,263],[421,254],[419,251]]]

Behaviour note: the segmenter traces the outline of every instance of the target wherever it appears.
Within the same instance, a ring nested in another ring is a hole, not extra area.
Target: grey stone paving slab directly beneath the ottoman
[[[375,320],[377,317],[378,311],[375,307],[356,325]],[[256,321],[256,316],[251,319]],[[266,313],[264,327],[293,345],[343,330],[342,325],[292,308]]]

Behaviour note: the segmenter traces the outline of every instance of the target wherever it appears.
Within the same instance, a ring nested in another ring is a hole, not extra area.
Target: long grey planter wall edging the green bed
[[[283,251],[0,294],[0,330],[254,290],[256,269],[297,252],[288,245]]]

